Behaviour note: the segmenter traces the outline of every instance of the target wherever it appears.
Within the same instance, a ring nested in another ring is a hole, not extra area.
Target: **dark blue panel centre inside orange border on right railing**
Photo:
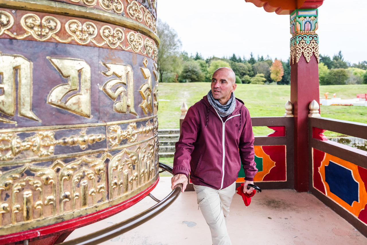
[[[353,179],[352,170],[329,161],[325,166],[325,181],[330,191],[350,206],[359,201],[358,182]]]

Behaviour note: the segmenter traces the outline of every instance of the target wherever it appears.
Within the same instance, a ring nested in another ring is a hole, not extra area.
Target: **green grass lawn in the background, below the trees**
[[[235,96],[245,103],[251,116],[283,116],[284,105],[290,100],[289,85],[237,84]],[[160,83],[158,119],[161,129],[179,128],[180,107],[186,102],[188,107],[195,104],[210,90],[210,83]],[[367,93],[367,84],[320,86],[320,97],[329,92],[342,99],[356,98],[356,94]],[[354,122],[367,123],[367,107],[330,105],[320,108],[321,116]],[[254,127],[255,135],[266,135],[273,130]],[[326,132],[327,136],[337,136]],[[173,161],[173,159],[172,159]]]

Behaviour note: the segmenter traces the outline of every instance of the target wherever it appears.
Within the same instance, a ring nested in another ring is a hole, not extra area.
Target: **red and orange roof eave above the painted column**
[[[245,0],[256,7],[263,7],[266,12],[276,14],[291,14],[295,9],[315,9],[320,7],[324,0]]]

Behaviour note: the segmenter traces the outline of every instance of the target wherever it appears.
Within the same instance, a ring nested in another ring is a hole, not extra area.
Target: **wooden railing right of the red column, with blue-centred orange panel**
[[[367,124],[309,118],[310,192],[367,235],[367,152],[328,140],[326,130],[367,139]]]

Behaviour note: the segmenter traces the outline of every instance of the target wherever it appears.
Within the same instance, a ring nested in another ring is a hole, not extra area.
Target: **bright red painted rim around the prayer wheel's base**
[[[152,185],[150,185],[150,187],[140,192],[139,194],[135,195],[134,197],[131,197],[127,199],[126,201],[121,202],[119,204],[116,204],[115,206],[102,209],[98,212],[90,213],[88,215],[76,217],[74,219],[62,221],[60,223],[52,224],[49,226],[35,228],[32,230],[28,230],[28,231],[21,231],[18,233],[1,235],[0,245],[8,244],[11,242],[23,241],[25,239],[32,239],[35,237],[45,238],[50,235],[60,234],[66,231],[73,231],[76,228],[86,226],[88,224],[92,224],[99,220],[105,219],[109,216],[115,215],[116,213],[119,213],[127,208],[130,208],[132,205],[135,205],[137,202],[145,198],[156,187],[156,185],[158,184],[158,181],[159,181],[159,177]]]

